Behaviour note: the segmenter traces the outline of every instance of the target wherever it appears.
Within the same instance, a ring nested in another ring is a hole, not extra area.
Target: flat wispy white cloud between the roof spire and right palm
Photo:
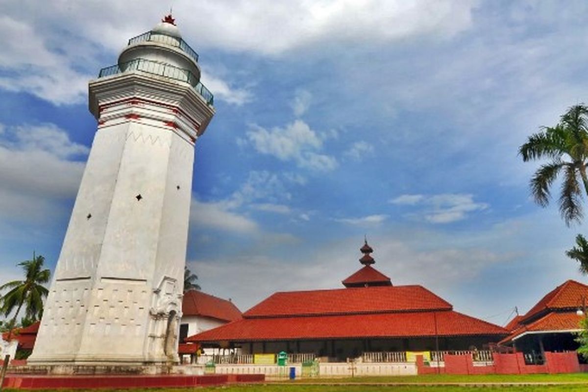
[[[425,208],[416,214],[420,219],[430,223],[452,223],[466,219],[469,213],[479,212],[489,207],[487,203],[477,203],[473,195],[466,193],[442,193],[440,195],[401,195],[390,200],[397,205],[416,206]]]

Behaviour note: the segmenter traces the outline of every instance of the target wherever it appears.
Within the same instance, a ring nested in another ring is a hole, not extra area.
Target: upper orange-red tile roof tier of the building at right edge
[[[578,309],[582,306],[582,298],[588,300],[588,286],[576,280],[566,280],[551,292],[547,293],[522,318],[522,322],[539,316],[549,310]]]

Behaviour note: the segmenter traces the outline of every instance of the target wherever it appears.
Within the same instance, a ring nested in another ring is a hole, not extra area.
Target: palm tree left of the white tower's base
[[[48,283],[51,276],[48,269],[42,269],[44,262],[45,257],[35,256],[33,252],[32,260],[18,263],[25,272],[25,280],[13,280],[0,286],[0,291],[9,290],[2,297],[0,312],[7,317],[14,311],[14,316],[9,323],[8,340],[11,338],[12,329],[22,306],[25,306],[26,317],[35,320],[41,319],[43,298],[49,294],[49,290],[42,285]]]

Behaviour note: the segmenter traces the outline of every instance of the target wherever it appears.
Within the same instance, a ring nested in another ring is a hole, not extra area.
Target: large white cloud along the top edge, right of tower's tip
[[[186,26],[186,31],[198,31],[202,42],[278,55],[317,43],[386,42],[419,35],[450,37],[469,28],[474,4],[455,0],[300,0],[286,6],[271,0],[243,0],[174,4],[174,9],[190,9],[190,14],[199,15],[201,22]]]

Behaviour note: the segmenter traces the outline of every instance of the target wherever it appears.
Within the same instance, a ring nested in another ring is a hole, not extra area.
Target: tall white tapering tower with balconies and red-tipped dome
[[[215,110],[171,15],[89,83],[98,120],[30,364],[178,361],[194,144]]]

